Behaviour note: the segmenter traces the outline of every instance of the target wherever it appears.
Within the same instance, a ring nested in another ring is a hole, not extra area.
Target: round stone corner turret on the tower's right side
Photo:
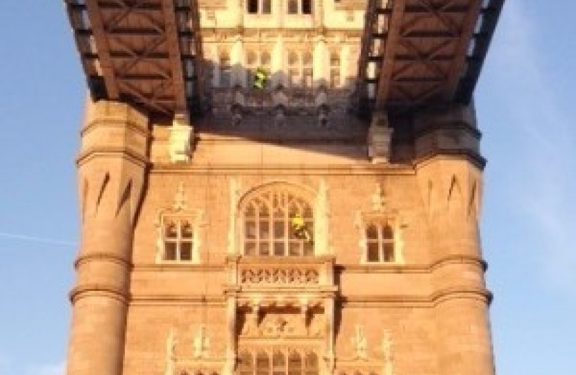
[[[488,317],[491,294],[484,283],[478,228],[484,164],[475,142],[455,147],[443,140],[446,131],[465,137],[470,124],[464,122],[469,119],[473,117],[452,110],[416,119],[417,153],[423,147],[426,151],[416,171],[431,235],[435,347],[442,375],[494,375]],[[430,138],[441,142],[428,142]]]

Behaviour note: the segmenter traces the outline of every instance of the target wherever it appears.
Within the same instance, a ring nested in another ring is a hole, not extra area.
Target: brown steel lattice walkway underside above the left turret
[[[201,102],[196,0],[64,1],[94,99],[168,116]]]

